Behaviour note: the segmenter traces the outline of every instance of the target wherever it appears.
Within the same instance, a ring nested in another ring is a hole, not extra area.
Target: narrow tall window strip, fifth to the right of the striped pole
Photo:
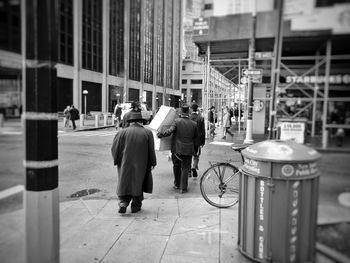
[[[154,4],[146,1],[145,8],[145,69],[144,81],[153,84],[153,36],[154,36]]]

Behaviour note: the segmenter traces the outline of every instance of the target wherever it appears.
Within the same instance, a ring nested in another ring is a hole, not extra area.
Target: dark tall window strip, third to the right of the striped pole
[[[110,2],[109,73],[124,76],[124,0]]]

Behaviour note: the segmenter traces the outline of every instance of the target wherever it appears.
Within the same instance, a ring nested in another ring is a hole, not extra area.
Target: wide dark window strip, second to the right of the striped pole
[[[102,1],[83,1],[83,68],[102,72]]]

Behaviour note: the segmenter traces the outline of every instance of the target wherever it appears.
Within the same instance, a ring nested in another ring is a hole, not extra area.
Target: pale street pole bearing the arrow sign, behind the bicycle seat
[[[253,1],[252,35],[249,41],[248,68],[255,67],[255,32],[256,32],[256,0]],[[247,130],[244,143],[253,143],[253,82],[248,78],[248,101],[247,101]]]

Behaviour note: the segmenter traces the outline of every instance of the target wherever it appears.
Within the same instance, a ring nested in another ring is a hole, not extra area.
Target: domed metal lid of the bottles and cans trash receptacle
[[[252,144],[242,151],[244,157],[270,162],[311,162],[321,155],[314,149],[294,141],[267,140]]]

